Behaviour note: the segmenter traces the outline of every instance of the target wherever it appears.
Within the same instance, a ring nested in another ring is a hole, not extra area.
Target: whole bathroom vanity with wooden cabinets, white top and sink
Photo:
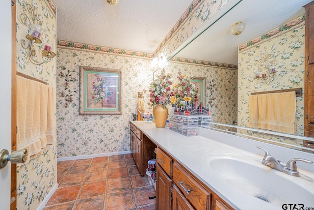
[[[262,165],[264,152],[287,163],[314,154],[199,128],[186,137],[152,122],[131,121],[131,152],[145,175],[156,150],[157,210],[278,210],[314,207],[314,164],[297,162],[300,177]]]

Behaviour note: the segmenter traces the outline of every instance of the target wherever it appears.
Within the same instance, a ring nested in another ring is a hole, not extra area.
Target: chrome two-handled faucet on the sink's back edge
[[[273,156],[270,155],[270,153],[265,150],[264,148],[260,146],[256,146],[258,149],[264,150],[264,158],[262,160],[262,164],[265,166],[268,166],[270,168],[276,169],[278,171],[284,172],[288,175],[300,177],[300,174],[298,172],[298,168],[296,167],[296,161],[303,161],[306,163],[313,163],[313,161],[306,160],[306,159],[300,159],[300,158],[293,158],[288,161],[287,165],[284,166],[280,163],[279,160],[276,160]]]

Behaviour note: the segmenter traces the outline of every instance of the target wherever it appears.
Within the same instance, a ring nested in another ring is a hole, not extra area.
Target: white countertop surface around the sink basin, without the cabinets
[[[260,145],[267,148],[267,150],[269,150],[275,158],[282,158],[281,160],[283,162],[288,160],[287,156],[289,159],[297,157],[310,159],[312,161],[314,160],[314,154],[282,148],[201,127],[199,127],[199,136],[186,137],[182,134],[169,130],[167,127],[156,128],[155,123],[152,122],[131,122],[136,125],[147,137],[153,140],[153,142],[155,142],[160,148],[168,152],[177,161],[183,164],[183,166],[186,167],[186,169],[188,169],[192,174],[202,180],[204,184],[208,185],[210,189],[218,194],[229,205],[239,210],[278,210],[282,209],[282,207],[274,207],[273,205],[254,198],[251,195],[239,192],[234,187],[230,187],[226,182],[217,177],[212,170],[210,170],[210,156],[218,152],[235,153],[248,155],[261,163],[264,152],[255,147],[256,145]],[[292,177],[279,171],[276,171],[275,173],[278,172],[279,176],[284,176],[286,179],[293,180],[294,182],[306,180],[307,183],[310,183],[309,191],[314,194],[313,165],[314,164],[300,164],[300,167],[298,165],[301,177]],[[261,167],[266,166],[263,166],[261,163]],[[266,167],[266,170],[274,169]],[[287,204],[288,203],[289,202],[287,202]],[[312,207],[314,206],[314,198],[309,204],[312,205]],[[304,208],[306,207],[309,206],[305,206]]]

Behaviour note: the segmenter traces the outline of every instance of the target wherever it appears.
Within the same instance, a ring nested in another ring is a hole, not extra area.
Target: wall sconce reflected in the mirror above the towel
[[[262,59],[260,60],[260,63],[262,63],[262,65],[259,68],[259,71],[256,72],[254,79],[263,79],[267,85],[271,84],[274,81],[277,72],[275,66],[278,64],[278,62],[276,61],[276,58],[273,60],[272,59],[273,57],[271,54],[267,54],[262,57]],[[263,72],[262,76],[260,72]]]

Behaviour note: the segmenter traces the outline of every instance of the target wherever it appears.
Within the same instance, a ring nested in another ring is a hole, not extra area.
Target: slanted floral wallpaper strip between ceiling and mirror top
[[[170,56],[210,17],[230,0],[193,0],[175,26],[157,47],[154,55]]]

